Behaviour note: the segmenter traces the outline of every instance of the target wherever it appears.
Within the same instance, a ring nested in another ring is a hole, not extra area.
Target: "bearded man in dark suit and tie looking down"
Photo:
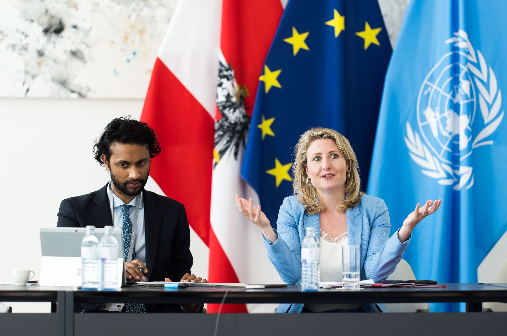
[[[58,211],[57,227],[123,230],[125,276],[140,281],[203,281],[191,274],[190,229],[183,204],[144,190],[151,159],[161,151],[153,129],[146,123],[116,118],[94,143],[95,160],[111,174],[111,181],[93,193],[65,199]],[[130,238],[133,244],[129,245]],[[128,259],[132,246],[132,257]],[[76,311],[97,309],[79,305]],[[122,311],[197,312],[202,304],[144,305],[127,303]]]

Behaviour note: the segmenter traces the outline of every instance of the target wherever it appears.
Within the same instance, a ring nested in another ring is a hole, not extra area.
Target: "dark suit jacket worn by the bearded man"
[[[185,207],[168,197],[147,190],[143,192],[147,278],[149,281],[164,281],[165,278],[179,281],[185,273],[191,273],[194,262]],[[87,225],[96,228],[113,225],[107,184],[98,191],[65,199],[60,204],[57,227],[84,228]],[[98,306],[75,308],[88,311]],[[181,312],[179,305],[147,305],[146,308],[147,311]]]

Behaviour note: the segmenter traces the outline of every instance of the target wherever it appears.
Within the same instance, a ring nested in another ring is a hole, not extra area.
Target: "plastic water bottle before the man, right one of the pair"
[[[105,234],[100,239],[101,286],[103,289],[118,288],[118,239],[112,226],[106,226]]]

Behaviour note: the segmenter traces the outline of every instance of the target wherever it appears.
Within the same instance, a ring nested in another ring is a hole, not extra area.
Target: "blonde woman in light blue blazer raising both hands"
[[[239,211],[261,229],[269,259],[282,280],[301,282],[301,243],[308,227],[320,232],[321,281],[341,281],[343,245],[360,245],[361,280],[386,279],[402,258],[412,230],[437,211],[442,200],[428,200],[422,207],[418,203],[389,237],[387,207],[382,199],[359,190],[357,160],[347,138],[332,129],[312,128],[300,137],[294,152],[294,195],[283,200],[277,230],[260,205],[236,195]],[[277,313],[324,311],[383,312],[385,305],[280,304],[276,309]]]

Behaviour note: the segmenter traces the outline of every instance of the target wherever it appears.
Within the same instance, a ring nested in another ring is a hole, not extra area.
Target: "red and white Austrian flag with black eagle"
[[[141,120],[163,148],[151,176],[185,205],[190,226],[209,247],[210,282],[280,281],[259,230],[239,213],[234,196],[259,203],[240,170],[281,14],[279,0],[180,0],[144,102]],[[208,305],[209,312],[217,309]],[[246,312],[246,306],[224,305],[222,312]]]

